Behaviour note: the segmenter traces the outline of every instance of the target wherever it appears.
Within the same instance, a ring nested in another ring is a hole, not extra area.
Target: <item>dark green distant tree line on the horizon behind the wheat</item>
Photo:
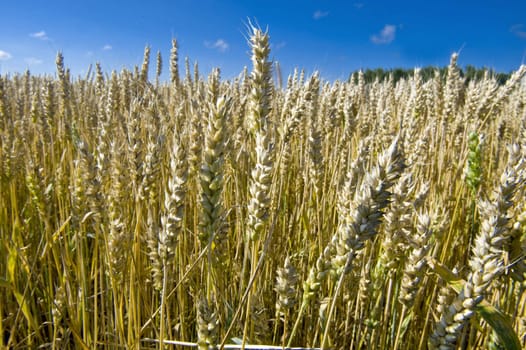
[[[506,81],[511,76],[511,73],[499,73],[495,72],[493,69],[490,68],[476,68],[472,65],[467,65],[464,67],[464,69],[460,68],[460,75],[465,78],[466,84],[469,83],[472,80],[478,81],[484,78],[484,75],[486,73],[489,74],[489,76],[494,77],[497,82],[502,85],[506,83]],[[447,76],[447,66],[446,67],[434,67],[434,66],[427,66],[420,68],[420,75],[422,76],[422,79],[424,81],[427,81],[429,79],[432,79],[435,77],[435,72],[439,72],[440,77],[445,79]],[[383,81],[385,79],[389,79],[389,77],[393,76],[393,81],[396,83],[400,79],[407,79],[413,76],[415,70],[414,68],[394,68],[394,69],[383,69],[383,68],[376,68],[376,69],[370,69],[367,68],[363,70],[364,79],[367,83],[371,83],[378,79],[379,81]],[[352,75],[351,75],[352,77]],[[351,79],[349,77],[349,79]],[[355,79],[357,79],[357,74],[354,75]]]

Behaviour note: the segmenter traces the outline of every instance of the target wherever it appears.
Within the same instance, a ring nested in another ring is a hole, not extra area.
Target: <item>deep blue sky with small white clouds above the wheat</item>
[[[62,51],[73,75],[90,63],[120,70],[167,62],[171,39],[203,75],[232,78],[250,66],[247,22],[268,27],[271,56],[284,75],[294,67],[327,79],[360,68],[459,64],[509,72],[526,63],[526,1],[372,0],[2,0],[0,72],[54,73]],[[183,74],[183,71],[181,71]]]

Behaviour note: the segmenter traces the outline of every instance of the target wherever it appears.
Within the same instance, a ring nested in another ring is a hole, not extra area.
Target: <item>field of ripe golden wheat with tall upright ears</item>
[[[525,348],[526,66],[282,82],[249,37],[0,76],[0,347]]]

